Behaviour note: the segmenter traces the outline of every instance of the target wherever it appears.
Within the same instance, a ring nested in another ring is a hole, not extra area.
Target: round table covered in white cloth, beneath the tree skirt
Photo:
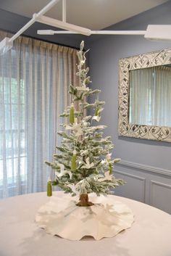
[[[113,196],[133,210],[133,226],[113,238],[70,241],[38,228],[36,212],[48,200],[45,192],[1,199],[1,256],[171,256],[171,215],[166,212]]]

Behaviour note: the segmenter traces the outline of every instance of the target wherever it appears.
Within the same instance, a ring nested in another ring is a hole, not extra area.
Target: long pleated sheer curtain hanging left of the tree
[[[46,190],[76,62],[75,49],[25,37],[0,57],[0,197]]]

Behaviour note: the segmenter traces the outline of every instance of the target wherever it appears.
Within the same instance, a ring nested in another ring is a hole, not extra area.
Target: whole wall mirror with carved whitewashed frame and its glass
[[[120,59],[118,132],[171,142],[171,49]]]

